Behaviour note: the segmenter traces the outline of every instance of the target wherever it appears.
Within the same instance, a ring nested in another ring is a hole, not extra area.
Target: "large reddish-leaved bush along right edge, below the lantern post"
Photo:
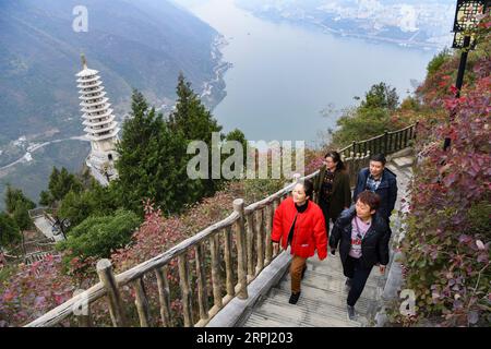
[[[427,151],[415,169],[402,246],[405,288],[415,290],[417,297],[416,322],[434,318],[443,326],[491,323],[490,72],[483,60],[475,67],[475,85],[462,98],[440,99],[447,115],[455,113],[453,121],[434,127],[428,120],[431,115],[421,120],[417,149]],[[452,145],[444,152],[442,140],[447,136]]]

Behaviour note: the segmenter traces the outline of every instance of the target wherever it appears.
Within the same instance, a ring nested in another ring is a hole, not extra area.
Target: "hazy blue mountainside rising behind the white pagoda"
[[[88,11],[87,33],[72,28],[80,4]],[[82,134],[74,76],[81,52],[100,71],[121,116],[132,87],[157,106],[171,104],[179,71],[196,92],[219,83],[217,35],[166,0],[1,1],[0,147],[21,135],[43,141]],[[213,107],[221,97],[215,88],[206,101]]]

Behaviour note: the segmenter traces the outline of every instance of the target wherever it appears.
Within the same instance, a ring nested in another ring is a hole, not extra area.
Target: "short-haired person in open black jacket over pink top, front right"
[[[387,221],[376,213],[380,197],[370,191],[362,192],[351,208],[345,209],[336,220],[330,237],[331,252],[339,245],[343,272],[348,278],[348,318],[355,320],[355,303],[361,296],[367,279],[375,264],[385,273],[388,263]]]

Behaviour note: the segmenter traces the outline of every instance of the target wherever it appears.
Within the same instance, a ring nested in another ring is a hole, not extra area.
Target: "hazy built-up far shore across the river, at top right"
[[[452,43],[453,0],[236,0],[272,21],[315,26],[343,36],[442,49]]]

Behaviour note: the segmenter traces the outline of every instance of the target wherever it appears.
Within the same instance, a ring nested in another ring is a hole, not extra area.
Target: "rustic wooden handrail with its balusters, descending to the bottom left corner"
[[[414,128],[416,124],[409,125],[403,130],[394,132],[385,132],[381,136],[372,137],[370,140],[355,142],[354,144],[363,144],[369,142],[374,142],[376,140],[385,139],[384,147],[388,146],[387,135],[398,135],[398,146],[397,149],[411,137],[414,137]],[[410,136],[407,132],[410,130]],[[403,133],[404,134],[403,137]],[[405,142],[403,142],[403,140]],[[339,151],[346,152],[354,145],[349,145]],[[379,148],[381,144],[378,144]],[[351,152],[351,156],[345,158],[346,163],[349,163],[349,172],[351,177],[355,177],[357,170],[361,167],[367,166],[368,158],[370,156],[370,147],[363,147],[368,149],[364,154],[355,154]],[[55,326],[68,316],[73,314],[73,310],[76,309],[80,302],[85,301],[87,304],[95,302],[96,300],[108,297],[109,308],[111,313],[111,320],[115,326],[121,326],[125,324],[125,318],[122,312],[122,303],[119,296],[119,289],[122,286],[129,285],[133,287],[136,294],[136,308],[140,316],[140,324],[142,326],[149,326],[148,316],[148,304],[147,298],[144,290],[143,277],[148,274],[156,276],[158,284],[158,298],[160,301],[160,316],[163,324],[165,326],[171,326],[173,321],[171,318],[169,303],[170,294],[167,282],[167,267],[169,263],[178,258],[179,261],[179,275],[180,275],[180,288],[182,300],[184,302],[184,325],[185,326],[204,326],[223,306],[225,306],[233,297],[247,298],[248,290],[247,286],[258,276],[258,274],[266,267],[275,257],[272,253],[271,246],[271,229],[273,224],[273,214],[277,204],[284,200],[288,193],[294,189],[298,180],[314,179],[320,174],[320,170],[315,172],[299,178],[296,177],[295,181],[284,189],[277,191],[276,193],[255,202],[247,207],[243,207],[243,203],[236,200],[235,210],[227,218],[205,228],[195,236],[180,242],[170,250],[145,261],[119,275],[112,275],[112,266],[110,261],[103,260],[98,264],[98,275],[101,281],[91,287],[83,293],[80,293],[72,299],[68,300],[63,304],[55,308],[53,310],[47,312],[43,316],[36,318],[26,325],[26,327],[39,327],[39,326]],[[267,208],[263,212],[263,208]],[[253,224],[254,219],[252,214],[260,212],[258,224]],[[251,226],[249,226],[249,224]],[[247,226],[247,227],[246,227]],[[235,243],[237,252],[237,263],[232,265],[232,228],[235,232]],[[221,255],[219,253],[219,240],[218,233],[225,232],[225,244],[224,244],[224,262],[226,278],[223,278],[219,273],[219,264]],[[259,240],[260,239],[260,240]],[[264,239],[264,240],[263,240]],[[208,277],[212,279],[213,284],[213,308],[207,310],[206,299],[205,299],[205,287],[204,282],[205,272],[201,261],[204,261],[205,249],[203,249],[204,243],[209,242],[211,246],[211,273]],[[254,243],[254,245],[251,245]],[[195,265],[195,270],[199,277],[199,321],[193,321],[193,309],[192,309],[192,292],[193,288],[189,285],[189,269],[193,268],[185,258],[188,251],[194,250],[197,255]],[[255,252],[255,258],[252,260],[252,251]],[[254,265],[255,264],[255,265]],[[233,273],[233,266],[237,265],[237,269]],[[104,268],[103,268],[104,266]],[[248,273],[249,272],[249,273]],[[235,274],[235,275],[233,275]],[[225,285],[224,285],[225,281]],[[236,284],[237,281],[237,284]],[[226,292],[223,297],[223,291]]]

